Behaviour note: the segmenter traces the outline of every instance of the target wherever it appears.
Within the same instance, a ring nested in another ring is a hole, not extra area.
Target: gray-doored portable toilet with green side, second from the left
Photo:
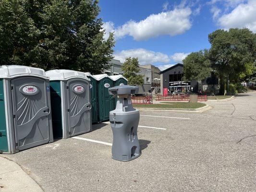
[[[51,70],[52,124],[55,138],[92,131],[90,79],[84,72]]]

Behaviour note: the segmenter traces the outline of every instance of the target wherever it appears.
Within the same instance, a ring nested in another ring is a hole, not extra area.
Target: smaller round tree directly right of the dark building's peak
[[[210,76],[212,69],[207,50],[190,53],[183,60],[184,80],[202,81]]]

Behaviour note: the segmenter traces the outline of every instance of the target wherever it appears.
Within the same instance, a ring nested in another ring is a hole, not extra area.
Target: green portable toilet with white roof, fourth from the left
[[[109,120],[110,111],[114,110],[114,98],[109,95],[113,80],[107,74],[93,75],[98,88],[98,118],[99,121]]]

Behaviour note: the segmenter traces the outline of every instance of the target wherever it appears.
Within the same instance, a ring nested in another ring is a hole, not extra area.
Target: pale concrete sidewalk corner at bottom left
[[[43,192],[15,162],[0,156],[0,192]]]

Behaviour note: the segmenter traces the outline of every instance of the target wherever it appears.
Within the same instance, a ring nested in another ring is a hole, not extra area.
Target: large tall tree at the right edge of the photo
[[[256,34],[247,28],[216,30],[208,36],[211,48],[209,59],[212,68],[220,78],[220,93],[224,92],[224,84],[241,82],[252,74],[256,60]]]

